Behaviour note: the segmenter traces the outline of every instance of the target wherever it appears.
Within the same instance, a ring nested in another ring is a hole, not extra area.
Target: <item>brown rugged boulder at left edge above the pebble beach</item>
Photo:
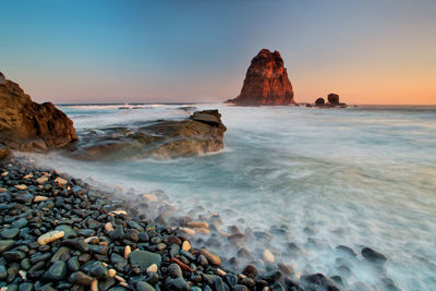
[[[75,140],[73,122],[51,102],[36,104],[16,83],[0,82],[0,144],[44,151]]]

